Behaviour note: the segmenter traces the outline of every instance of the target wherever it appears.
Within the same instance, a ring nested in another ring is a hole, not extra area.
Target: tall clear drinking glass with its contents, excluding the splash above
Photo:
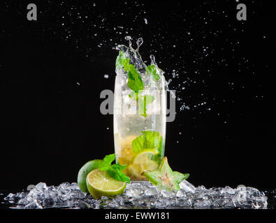
[[[115,79],[115,157],[117,163],[128,165],[124,171],[131,180],[147,180],[143,172],[157,169],[164,157],[165,83],[161,75],[158,83],[145,83],[145,89],[133,97],[126,77],[117,75]]]

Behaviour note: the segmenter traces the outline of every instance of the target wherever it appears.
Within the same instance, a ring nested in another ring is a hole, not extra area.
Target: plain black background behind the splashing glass
[[[32,1],[37,21],[30,2],[1,1],[0,189],[75,182],[82,164],[113,153],[99,95],[114,89],[112,47],[127,35],[143,37],[143,59],[156,56],[181,99],[167,123],[170,167],[194,185],[275,188],[273,12],[240,2],[247,21],[236,1]]]

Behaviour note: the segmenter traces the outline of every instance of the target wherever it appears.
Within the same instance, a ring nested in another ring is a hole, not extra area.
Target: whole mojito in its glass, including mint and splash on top
[[[130,41],[130,40],[129,40]],[[139,38],[139,44],[143,43]],[[138,49],[117,46],[114,99],[116,162],[131,180],[147,180],[143,173],[159,167],[166,137],[166,81],[163,71],[146,66]]]

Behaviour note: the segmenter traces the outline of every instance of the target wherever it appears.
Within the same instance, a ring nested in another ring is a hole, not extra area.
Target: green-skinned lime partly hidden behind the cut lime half
[[[78,171],[78,186],[80,187],[81,191],[89,193],[86,185],[87,174],[89,174],[94,169],[98,169],[102,162],[102,160],[91,160],[84,164],[82,168],[80,168],[80,171]]]

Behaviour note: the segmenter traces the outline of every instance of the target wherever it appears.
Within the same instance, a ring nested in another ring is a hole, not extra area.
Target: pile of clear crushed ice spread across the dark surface
[[[77,183],[47,186],[38,183],[29,192],[8,194],[5,200],[18,209],[42,208],[267,208],[267,197],[254,187],[194,187],[187,180],[177,192],[157,190],[150,182],[133,181],[124,194],[100,200],[81,192]]]

